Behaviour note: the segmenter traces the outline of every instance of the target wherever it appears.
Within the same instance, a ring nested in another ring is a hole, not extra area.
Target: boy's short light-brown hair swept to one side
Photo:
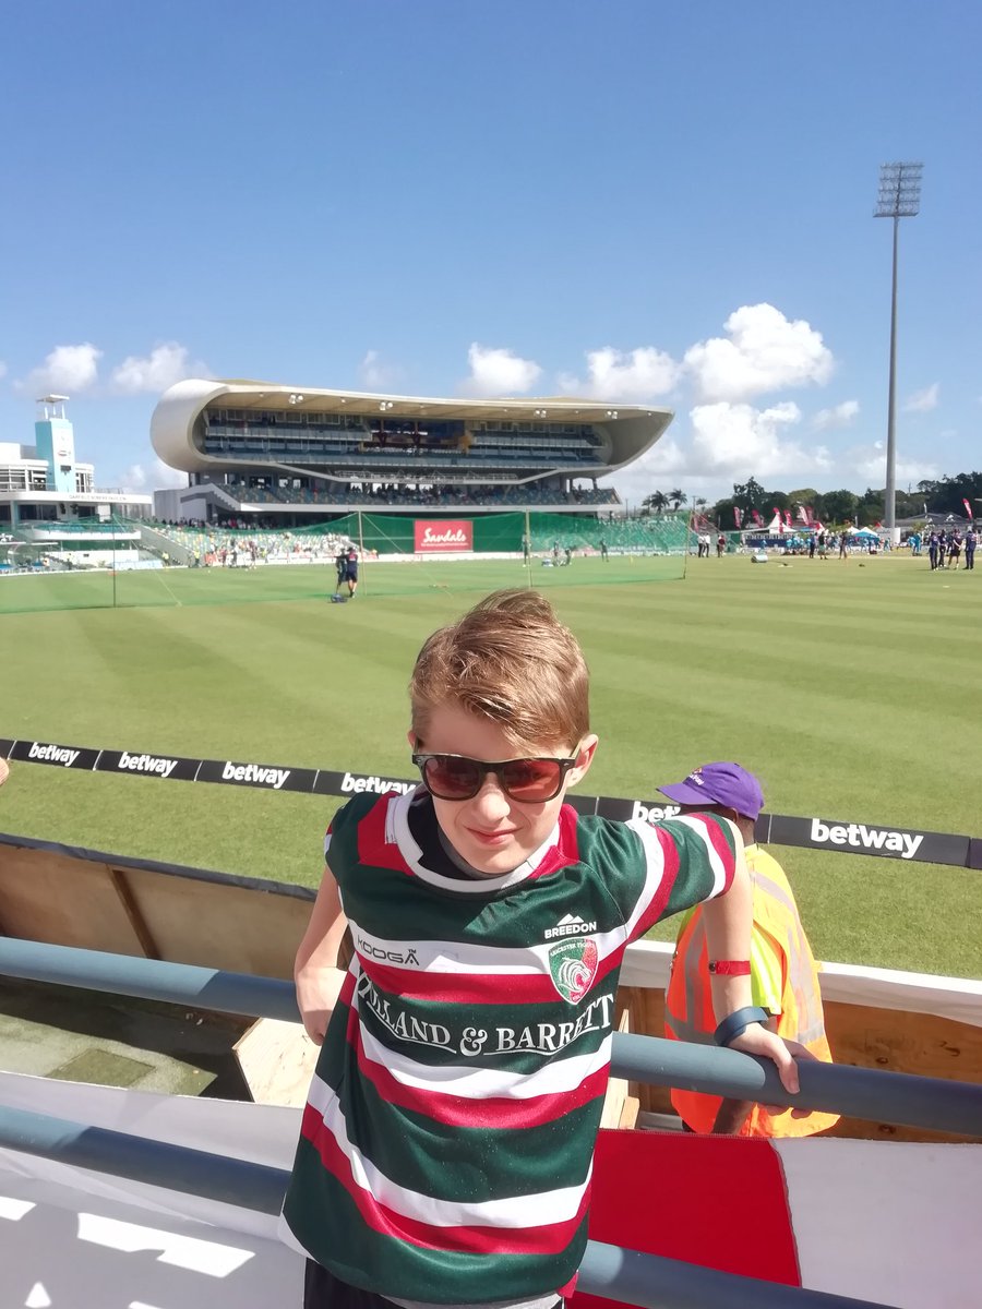
[[[580,644],[536,590],[496,590],[424,643],[410,682],[412,730],[448,702],[490,719],[517,747],[575,747],[589,732]]]

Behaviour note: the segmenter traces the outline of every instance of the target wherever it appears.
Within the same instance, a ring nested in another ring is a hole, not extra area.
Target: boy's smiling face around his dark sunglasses
[[[410,732],[410,745],[428,754],[460,754],[495,763],[516,758],[570,758],[580,745],[576,767],[566,774],[562,791],[554,800],[542,804],[512,800],[492,772],[486,775],[473,800],[433,797],[436,819],[457,853],[479,872],[498,877],[524,864],[549,836],[567,787],[579,781],[591,766],[597,738],[591,734],[583,744],[549,742],[516,749],[490,719],[478,717],[449,702],[429,715],[426,740],[416,740]]]

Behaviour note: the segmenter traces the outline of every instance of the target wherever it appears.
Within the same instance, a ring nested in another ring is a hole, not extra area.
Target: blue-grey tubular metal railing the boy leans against
[[[220,1013],[299,1020],[289,982],[241,973],[0,939],[0,974]],[[804,1063],[788,1096],[776,1071],[735,1050],[615,1033],[611,1072],[656,1085],[795,1103],[914,1127],[982,1135],[982,1086]],[[0,1145],[183,1194],[280,1212],[288,1173],[245,1160],[0,1106]],[[884,1309],[591,1241],[579,1287],[640,1309]]]

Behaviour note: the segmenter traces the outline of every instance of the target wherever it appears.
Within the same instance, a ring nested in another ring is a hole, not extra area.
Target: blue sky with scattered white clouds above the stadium
[[[676,411],[615,478],[881,487],[982,463],[982,8],[968,0],[31,0],[0,54],[0,441],[72,397],[166,484],[185,376]]]

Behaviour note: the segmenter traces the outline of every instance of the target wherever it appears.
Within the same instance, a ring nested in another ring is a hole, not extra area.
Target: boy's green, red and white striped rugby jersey
[[[563,805],[525,864],[473,881],[410,792],[356,796],[327,843],[355,957],[304,1111],[288,1238],[394,1299],[568,1295],[625,948],[728,889],[736,829]]]

